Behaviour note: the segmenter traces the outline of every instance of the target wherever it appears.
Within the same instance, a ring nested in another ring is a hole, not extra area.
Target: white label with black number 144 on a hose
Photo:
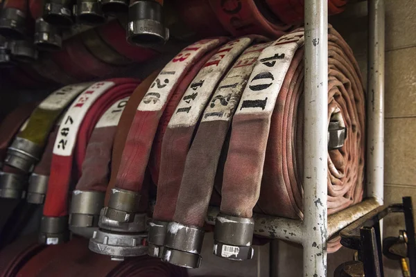
[[[176,107],[168,127],[188,127],[196,125],[205,105],[216,85],[229,65],[247,48],[252,39],[241,37],[222,46],[211,59],[202,66],[193,78],[182,100]]]

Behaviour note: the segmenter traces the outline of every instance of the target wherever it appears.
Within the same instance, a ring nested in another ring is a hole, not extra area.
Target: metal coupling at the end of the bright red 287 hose
[[[69,240],[68,216],[42,217],[39,242],[42,244],[60,244]]]

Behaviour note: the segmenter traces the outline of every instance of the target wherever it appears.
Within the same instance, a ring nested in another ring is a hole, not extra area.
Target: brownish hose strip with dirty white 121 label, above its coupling
[[[239,104],[257,57],[268,45],[254,44],[247,48],[218,84],[205,107],[184,163],[182,183],[180,190],[176,192],[177,202],[173,207],[175,214],[173,219],[169,219],[177,224],[172,225],[203,228],[214,188],[218,161],[232,115]],[[180,240],[180,238],[175,233],[171,240]],[[190,240],[202,245],[203,231],[202,235]]]

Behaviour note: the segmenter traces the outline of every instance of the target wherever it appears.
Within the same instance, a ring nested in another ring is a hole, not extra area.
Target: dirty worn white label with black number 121
[[[237,105],[239,105],[241,94],[243,94],[254,64],[257,62],[261,51],[268,46],[270,46],[270,43],[256,44],[241,54],[227,75],[218,84],[216,92],[205,108],[201,122],[231,120]]]

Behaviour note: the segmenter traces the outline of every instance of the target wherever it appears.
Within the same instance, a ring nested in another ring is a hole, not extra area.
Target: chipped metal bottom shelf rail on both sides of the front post
[[[343,211],[329,215],[328,217],[328,238],[337,235],[352,222],[358,220],[363,215],[379,207],[380,204],[374,198],[365,199],[363,202],[346,208]],[[214,225],[215,219],[220,209],[210,206],[207,214],[206,222]],[[302,238],[308,237],[307,232],[302,231],[301,220],[291,220],[284,217],[272,217],[269,215],[261,215],[254,213],[254,234],[261,235],[266,238],[277,238],[279,240],[287,240],[296,243],[302,243]]]

